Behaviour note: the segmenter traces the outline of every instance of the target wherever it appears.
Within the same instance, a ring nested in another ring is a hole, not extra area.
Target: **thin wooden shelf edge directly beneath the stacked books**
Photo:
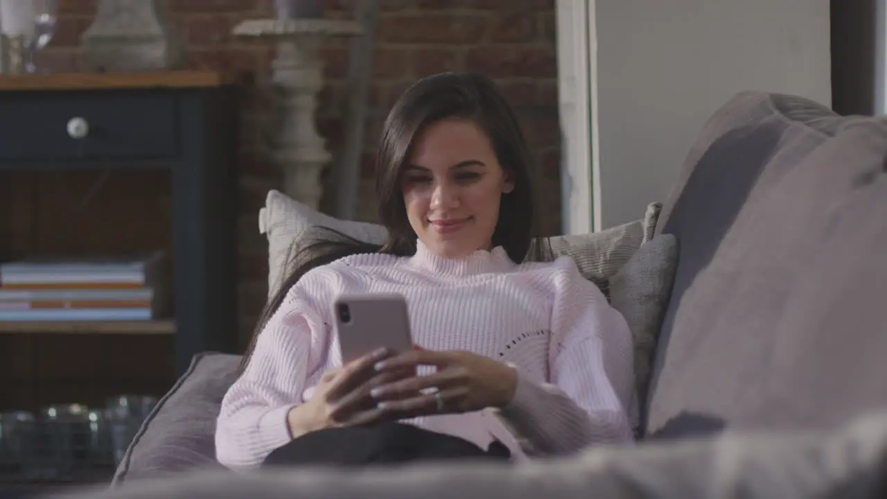
[[[0,321],[0,333],[172,335],[176,321]]]

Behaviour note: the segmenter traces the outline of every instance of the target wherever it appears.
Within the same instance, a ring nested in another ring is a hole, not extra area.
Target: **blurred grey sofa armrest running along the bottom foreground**
[[[885,497],[885,456],[887,414],[881,414],[835,432],[724,433],[709,439],[596,448],[544,462],[422,465],[391,471],[202,471],[72,497]]]

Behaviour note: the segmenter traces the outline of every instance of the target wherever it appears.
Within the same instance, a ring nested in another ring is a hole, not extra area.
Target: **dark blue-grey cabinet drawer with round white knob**
[[[159,159],[176,154],[176,133],[163,92],[0,93],[3,162]]]

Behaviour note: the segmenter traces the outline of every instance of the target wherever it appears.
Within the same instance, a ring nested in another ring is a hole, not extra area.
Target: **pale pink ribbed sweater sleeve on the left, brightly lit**
[[[229,468],[252,468],[292,440],[287,412],[302,403],[316,364],[316,346],[326,343],[317,289],[309,274],[259,333],[252,360],[224,396],[216,421],[216,459]],[[312,352],[313,351],[313,352]]]

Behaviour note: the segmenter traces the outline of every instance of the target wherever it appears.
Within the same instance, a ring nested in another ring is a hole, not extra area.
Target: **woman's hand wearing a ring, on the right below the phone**
[[[417,372],[414,369],[419,366],[437,369],[427,376],[411,376],[373,388],[373,399],[386,418],[502,408],[514,398],[514,368],[472,352],[412,350],[381,360],[376,370],[403,375]]]

